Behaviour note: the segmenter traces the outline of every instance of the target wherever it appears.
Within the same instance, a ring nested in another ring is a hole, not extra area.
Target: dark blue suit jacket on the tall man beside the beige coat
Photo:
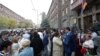
[[[75,35],[73,32],[68,32],[65,34],[63,45],[65,53],[72,53],[75,51]]]

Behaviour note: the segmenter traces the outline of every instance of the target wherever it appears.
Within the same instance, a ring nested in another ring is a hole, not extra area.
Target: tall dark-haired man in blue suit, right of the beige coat
[[[65,31],[66,33],[63,39],[64,56],[71,56],[72,52],[75,51],[75,35],[71,32],[69,27],[67,27]]]

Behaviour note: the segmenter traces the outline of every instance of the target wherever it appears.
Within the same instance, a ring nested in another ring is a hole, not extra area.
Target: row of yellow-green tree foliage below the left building
[[[0,16],[0,29],[2,28],[32,28],[33,24],[30,21],[17,22],[14,18],[8,18],[6,16]]]

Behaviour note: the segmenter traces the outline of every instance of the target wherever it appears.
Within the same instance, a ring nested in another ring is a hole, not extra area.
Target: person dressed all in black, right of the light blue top
[[[30,46],[34,48],[34,56],[41,56],[41,52],[44,48],[43,42],[37,32],[31,33],[31,44]]]

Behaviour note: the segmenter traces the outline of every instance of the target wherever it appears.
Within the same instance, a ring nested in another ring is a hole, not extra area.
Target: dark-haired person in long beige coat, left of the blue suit
[[[53,56],[63,56],[63,44],[58,32],[53,38]]]

